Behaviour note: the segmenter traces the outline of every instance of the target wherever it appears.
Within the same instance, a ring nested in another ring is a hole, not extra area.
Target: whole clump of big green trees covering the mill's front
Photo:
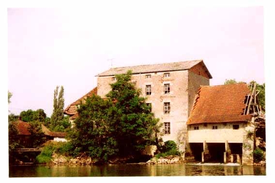
[[[146,99],[131,82],[131,72],[116,75],[107,98],[93,95],[81,104],[71,143],[77,151],[107,161],[114,155],[137,155],[146,145],[156,144],[158,119]]]

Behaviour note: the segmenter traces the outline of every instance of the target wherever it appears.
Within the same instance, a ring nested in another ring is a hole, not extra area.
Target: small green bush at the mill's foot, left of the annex
[[[169,155],[180,155],[181,152],[178,151],[177,144],[173,140],[168,140],[164,142],[161,152],[156,154],[156,158],[166,157]]]

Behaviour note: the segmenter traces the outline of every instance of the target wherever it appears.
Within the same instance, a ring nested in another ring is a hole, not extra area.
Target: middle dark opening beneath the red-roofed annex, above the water
[[[207,146],[210,154],[210,158],[207,160],[207,162],[223,163],[225,143],[207,143]]]

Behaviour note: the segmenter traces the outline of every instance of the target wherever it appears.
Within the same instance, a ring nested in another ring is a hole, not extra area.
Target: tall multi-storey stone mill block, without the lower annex
[[[69,105],[64,114],[77,117],[76,107],[92,93],[101,97],[110,91],[115,75],[132,71],[132,81],[142,90],[156,118],[163,123],[163,141],[174,140],[184,152],[186,122],[199,86],[209,85],[212,78],[202,60],[111,68],[97,75],[97,87]]]

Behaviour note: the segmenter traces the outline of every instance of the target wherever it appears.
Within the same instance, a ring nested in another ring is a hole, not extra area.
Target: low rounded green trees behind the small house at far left
[[[46,119],[46,113],[44,112],[43,109],[37,109],[37,110],[26,110],[20,112],[20,116],[22,118],[23,122],[33,122],[33,121],[38,121],[38,122],[45,122]]]

